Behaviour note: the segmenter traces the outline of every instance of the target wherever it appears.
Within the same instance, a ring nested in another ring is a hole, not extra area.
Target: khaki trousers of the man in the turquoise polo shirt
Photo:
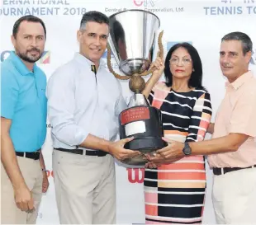
[[[35,224],[42,195],[43,173],[39,160],[17,157],[21,174],[31,190],[35,210],[30,213],[17,208],[12,183],[1,163],[1,224]]]

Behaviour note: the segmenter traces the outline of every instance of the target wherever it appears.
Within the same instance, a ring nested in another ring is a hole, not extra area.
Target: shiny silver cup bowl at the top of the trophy
[[[152,62],[159,17],[144,10],[126,10],[109,17],[108,43],[122,73],[143,73]]]

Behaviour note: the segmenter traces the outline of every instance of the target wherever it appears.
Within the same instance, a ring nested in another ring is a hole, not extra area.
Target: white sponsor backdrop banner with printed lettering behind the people
[[[10,37],[14,22],[27,14],[39,16],[45,21],[47,40],[45,53],[38,65],[49,78],[56,68],[72,59],[73,54],[78,51],[76,32],[84,12],[97,10],[110,16],[126,9],[144,9],[159,16],[160,30],[164,30],[165,54],[172,45],[182,41],[197,48],[203,65],[203,85],[211,93],[213,121],[225,94],[225,78],[219,65],[220,39],[223,35],[231,31],[242,31],[251,37],[254,55],[250,68],[256,74],[256,0],[2,0],[1,61],[7,59],[9,51],[13,49]],[[107,54],[103,58],[106,60]],[[111,58],[111,63],[118,72],[114,58]],[[121,82],[121,85],[124,96],[129,101],[131,92],[128,83]],[[53,224],[59,223],[59,218],[55,204],[49,122],[46,125],[48,133],[43,154],[50,188],[42,198],[37,223]],[[208,166],[206,168],[207,190],[203,223],[212,224],[216,223],[211,203],[212,172]],[[143,180],[143,168],[126,168],[116,163],[117,223],[145,223]]]

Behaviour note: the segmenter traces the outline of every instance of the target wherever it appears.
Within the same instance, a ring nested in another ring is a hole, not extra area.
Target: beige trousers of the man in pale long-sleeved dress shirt
[[[116,223],[114,158],[53,152],[59,222]]]

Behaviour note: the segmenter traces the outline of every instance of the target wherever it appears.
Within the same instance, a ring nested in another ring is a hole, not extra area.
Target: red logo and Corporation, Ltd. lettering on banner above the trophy
[[[148,12],[184,12],[184,7],[164,7],[168,4],[163,4],[164,6],[160,6],[160,4],[164,1],[159,0],[130,0],[133,2],[135,7],[143,8]]]

